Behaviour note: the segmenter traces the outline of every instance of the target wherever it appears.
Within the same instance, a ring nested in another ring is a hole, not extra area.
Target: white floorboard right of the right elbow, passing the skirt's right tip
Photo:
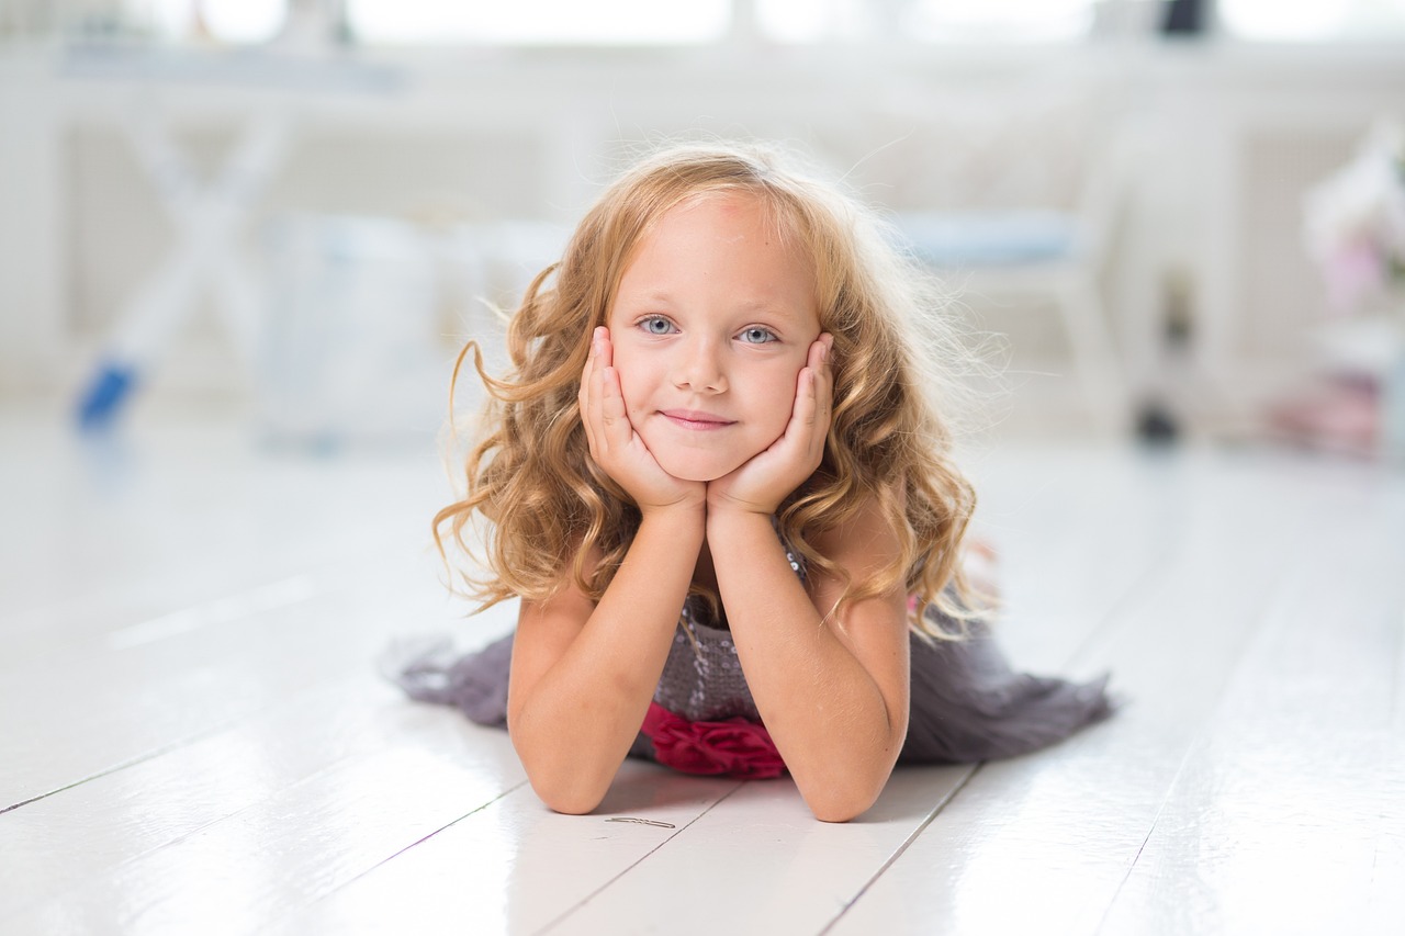
[[[982,766],[833,932],[1096,928],[1304,528],[1255,495],[1253,476],[1183,469],[1183,520],[1152,531],[1172,561],[1076,666],[1111,669],[1130,697],[1123,711],[1051,750]],[[1116,550],[1130,530],[1103,533]]]

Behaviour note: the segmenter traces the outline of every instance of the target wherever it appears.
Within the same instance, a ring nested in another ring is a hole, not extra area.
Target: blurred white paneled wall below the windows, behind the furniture
[[[254,222],[294,208],[569,222],[620,162],[621,141],[690,131],[818,148],[877,200],[901,202],[877,167],[920,164],[919,121],[940,126],[962,103],[1017,112],[1033,90],[1072,89],[1130,107],[1155,141],[1109,281],[1132,370],[1154,358],[1166,271],[1184,271],[1205,367],[1253,398],[1301,365],[1304,327],[1321,315],[1298,246],[1300,194],[1373,117],[1405,114],[1405,55],[1395,52],[440,53],[391,63],[403,69],[399,91],[306,90],[303,74],[303,90],[289,93],[212,74],[80,79],[62,74],[56,52],[11,51],[0,53],[0,391],[76,392],[122,302],[171,246],[125,135],[139,111],[163,114],[208,173],[250,114],[292,114],[292,149]],[[1047,156],[1040,141],[1027,146],[1016,156]],[[1019,347],[1059,353],[1058,333],[1030,316],[995,311],[986,325],[1010,329]],[[160,385],[244,385],[208,311],[180,333]]]

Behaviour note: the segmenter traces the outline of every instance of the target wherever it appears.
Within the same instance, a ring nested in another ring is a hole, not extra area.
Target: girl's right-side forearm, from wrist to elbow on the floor
[[[732,639],[801,795],[822,819],[857,815],[892,772],[906,696],[885,698],[836,623],[821,621],[769,517],[711,514],[708,541],[728,544],[714,564]]]

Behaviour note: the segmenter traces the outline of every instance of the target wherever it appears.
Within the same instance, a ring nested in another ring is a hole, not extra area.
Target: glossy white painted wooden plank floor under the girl
[[[375,673],[510,623],[444,596],[427,447],[59,417],[0,410],[3,933],[1405,932],[1405,474],[1002,443],[1006,645],[1116,720],[849,825],[642,763],[561,817]]]

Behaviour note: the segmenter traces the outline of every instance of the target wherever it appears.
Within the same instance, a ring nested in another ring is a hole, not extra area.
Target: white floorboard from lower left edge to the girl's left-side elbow
[[[503,732],[406,706],[368,675],[291,697],[235,728],[0,814],[0,921],[81,890],[353,758],[413,746],[471,772],[464,808],[525,776]],[[0,929],[4,929],[0,925]]]

